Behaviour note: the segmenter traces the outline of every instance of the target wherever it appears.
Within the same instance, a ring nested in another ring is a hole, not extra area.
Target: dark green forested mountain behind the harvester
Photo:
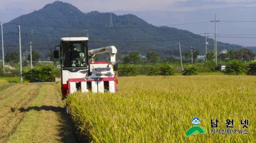
[[[110,15],[113,27],[109,27]],[[87,33],[90,49],[114,45],[118,49],[118,57],[135,51],[142,55],[148,51],[156,51],[161,59],[170,55],[178,56],[178,42],[183,54],[190,50],[192,45],[195,50],[205,54],[204,37],[192,32],[166,26],[156,27],[132,14],[118,16],[98,11],[85,14],[75,6],[60,1],[47,4],[38,11],[3,24],[5,53],[19,51],[18,25],[21,26],[22,52],[29,50],[31,41],[32,49],[40,51],[41,58],[46,58],[49,50],[59,45],[60,38],[87,37]],[[210,51],[213,49],[213,39],[207,40],[212,45],[208,46]],[[229,44],[217,42],[217,45]],[[241,48],[230,47],[235,50]],[[224,49],[224,46],[219,46],[218,49]]]

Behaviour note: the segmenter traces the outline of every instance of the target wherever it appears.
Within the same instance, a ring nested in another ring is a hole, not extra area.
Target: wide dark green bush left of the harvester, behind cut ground
[[[50,66],[24,70],[21,76],[29,82],[54,82],[54,68]]]

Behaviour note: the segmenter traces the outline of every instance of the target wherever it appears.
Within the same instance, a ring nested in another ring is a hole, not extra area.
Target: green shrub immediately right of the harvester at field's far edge
[[[123,66],[120,66],[118,69],[118,76],[136,76],[138,74],[139,74],[138,68],[130,64],[125,64]]]

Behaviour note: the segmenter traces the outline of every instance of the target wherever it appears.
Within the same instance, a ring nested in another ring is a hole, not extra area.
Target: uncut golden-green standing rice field
[[[70,113],[90,142],[256,142],[256,77],[231,75],[118,77],[118,92],[77,92],[67,99]],[[207,133],[186,136],[198,117]],[[242,129],[248,119],[248,134],[213,134]]]

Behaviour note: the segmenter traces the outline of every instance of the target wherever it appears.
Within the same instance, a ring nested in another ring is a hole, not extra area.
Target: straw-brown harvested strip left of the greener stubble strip
[[[16,85],[17,89],[21,88],[16,92],[12,92],[9,97],[1,101],[0,142],[6,142],[16,130],[26,114],[23,109],[28,107],[29,103],[37,96],[38,90],[41,87],[40,84],[25,85],[23,87],[21,84]]]

